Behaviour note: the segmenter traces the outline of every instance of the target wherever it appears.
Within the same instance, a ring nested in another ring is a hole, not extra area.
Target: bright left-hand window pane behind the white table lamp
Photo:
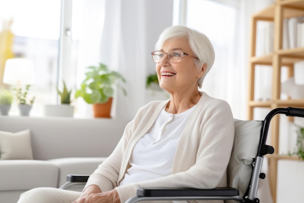
[[[10,31],[13,43],[8,48],[13,52],[12,57],[29,58],[34,62],[35,85],[30,94],[35,95],[38,108],[33,108],[31,114],[42,112],[39,104],[50,101],[52,88],[56,87],[60,9],[60,0],[0,0],[1,43],[5,43],[5,31]],[[5,60],[1,58],[2,71]],[[17,106],[12,105],[10,113],[17,114]]]

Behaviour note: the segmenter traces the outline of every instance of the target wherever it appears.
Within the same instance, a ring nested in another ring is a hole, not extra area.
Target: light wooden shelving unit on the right
[[[301,107],[304,108],[304,99],[281,100],[281,68],[287,67],[287,76],[294,75],[294,63],[304,60],[304,47],[282,49],[283,19],[304,16],[304,0],[276,0],[268,8],[256,13],[252,17],[251,58],[249,67],[249,101],[248,119],[253,120],[254,108]],[[263,56],[256,56],[256,30],[258,21],[270,21],[274,24],[273,52]],[[267,65],[272,68],[272,95],[269,101],[254,99],[255,66]],[[273,202],[276,203],[277,166],[280,159],[297,160],[295,157],[281,156],[279,151],[279,116],[271,120],[271,146],[275,154],[269,157],[269,180]]]

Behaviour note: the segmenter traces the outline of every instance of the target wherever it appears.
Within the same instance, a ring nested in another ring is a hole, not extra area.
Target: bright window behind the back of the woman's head
[[[242,75],[247,68],[240,65],[247,55],[239,47],[243,27],[238,4],[237,0],[175,0],[173,13],[173,24],[197,29],[210,39],[215,63],[204,79],[202,91],[226,100],[236,116],[240,106],[246,105],[246,97],[237,96],[243,91]]]

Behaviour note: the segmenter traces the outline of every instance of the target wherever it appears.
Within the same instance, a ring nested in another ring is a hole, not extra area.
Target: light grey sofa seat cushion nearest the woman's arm
[[[94,158],[59,158],[59,159],[50,159],[50,162],[53,165],[56,165],[59,168],[59,181],[57,187],[61,187],[67,183],[68,174],[82,174],[82,175],[91,175],[95,169],[105,160],[105,157],[94,157]]]

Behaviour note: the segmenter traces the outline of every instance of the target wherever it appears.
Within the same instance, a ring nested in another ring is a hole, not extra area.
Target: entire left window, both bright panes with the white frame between
[[[61,88],[62,80],[68,89],[76,90],[84,78],[83,69],[98,61],[103,18],[103,0],[0,0],[0,40],[7,42],[3,36],[11,31],[13,44],[7,46],[13,57],[34,62],[35,82],[29,92],[36,97],[32,116],[43,116],[45,104],[58,103],[56,87]],[[5,60],[0,54],[0,73]],[[2,74],[0,80],[0,89],[6,87]],[[85,117],[77,112],[81,104],[73,101],[73,105],[75,115]],[[12,105],[10,114],[18,114],[17,105]]]

